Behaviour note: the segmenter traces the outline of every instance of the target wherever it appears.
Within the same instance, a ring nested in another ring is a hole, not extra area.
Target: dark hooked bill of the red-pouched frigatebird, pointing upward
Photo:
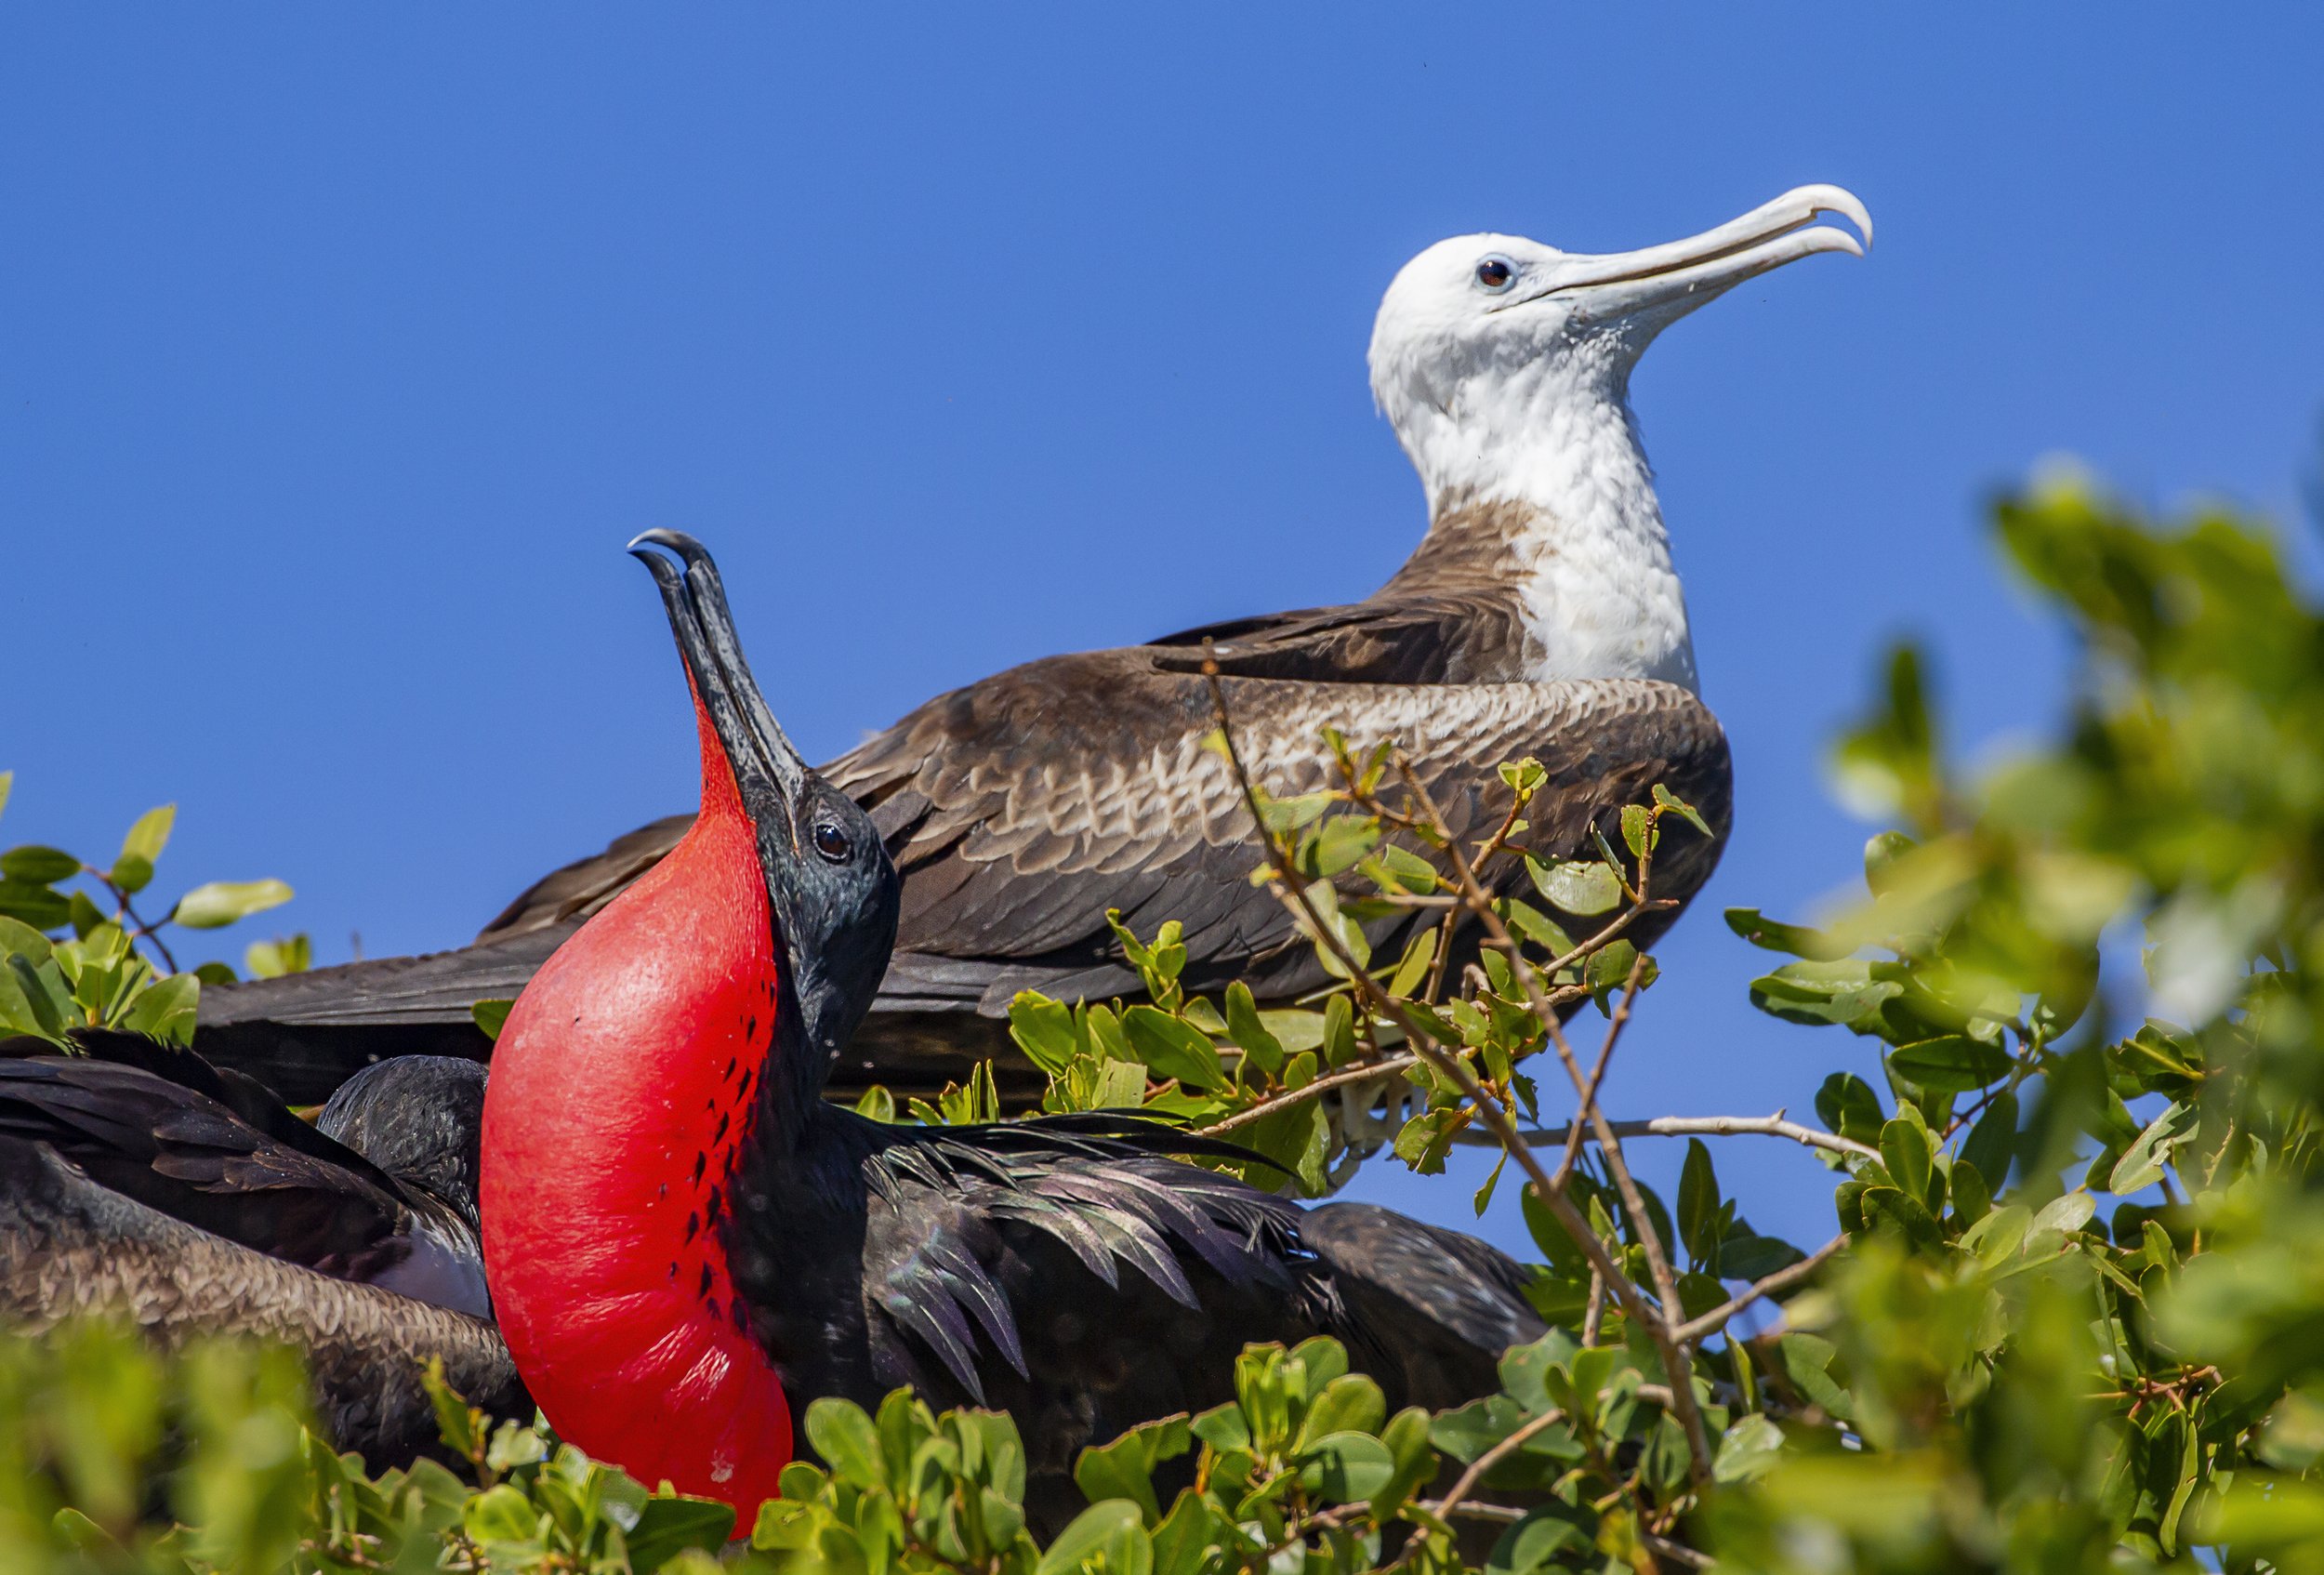
[[[676,555],[672,562],[662,548]],[[734,639],[734,613],[727,611],[725,585],[718,583],[718,564],[706,546],[683,530],[648,530],[630,541],[630,555],[653,574],[662,590],[662,606],[669,613],[669,632],[679,639],[679,655],[695,681],[695,695],[725,746],[727,764],[734,769],[734,785],[741,790],[744,808],[767,832],[781,829],[781,841],[799,857],[797,808],[806,792],[806,762],[790,746],[767,697],[758,692],[751,664]],[[774,799],[774,815],[767,799]]]

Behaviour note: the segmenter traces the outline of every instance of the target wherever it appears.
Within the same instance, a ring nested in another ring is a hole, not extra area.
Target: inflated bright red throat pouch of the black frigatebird
[[[709,713],[702,815],[509,1013],[483,1101],[483,1259],[560,1438],[744,1519],[792,1459],[720,1222],[776,1043],[758,836]]]

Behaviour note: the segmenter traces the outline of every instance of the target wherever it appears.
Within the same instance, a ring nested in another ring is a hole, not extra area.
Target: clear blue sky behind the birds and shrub
[[[1838,181],[1868,260],[1636,381],[1741,820],[1613,1103],[1806,1108],[1868,1064],[1750,1013],[1717,908],[1855,878],[1820,748],[1882,637],[1936,637],[1968,739],[2050,713],[1980,499],[2071,451],[2298,518],[2324,21],[1411,12],[12,7],[0,841],[177,799],[160,885],[300,890],[244,929],[456,943],[688,804],[632,532],[720,553],[832,755],[1023,657],[1385,578],[1422,502],[1364,339],[1427,242],[1627,249]],[[1813,1164],[1727,1152],[1762,1227],[1829,1231]]]

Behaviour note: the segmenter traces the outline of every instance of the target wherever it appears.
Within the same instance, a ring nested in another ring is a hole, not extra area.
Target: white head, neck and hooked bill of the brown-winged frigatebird
[[[1864,239],[1817,225],[1822,214]],[[1420,472],[1432,525],[1485,504],[1529,513],[1511,544],[1543,653],[1529,678],[1697,688],[1629,369],[1655,335],[1745,279],[1820,251],[1864,256],[1871,239],[1850,193],[1801,186],[1643,251],[1462,235],[1404,265],[1371,330],[1371,393]]]

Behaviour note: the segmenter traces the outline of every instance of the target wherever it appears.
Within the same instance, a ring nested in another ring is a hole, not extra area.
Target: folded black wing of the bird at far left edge
[[[486,1312],[467,1215],[290,1115],[253,1080],[130,1034],[84,1055],[0,1045],[0,1136],[244,1247],[342,1280]]]

